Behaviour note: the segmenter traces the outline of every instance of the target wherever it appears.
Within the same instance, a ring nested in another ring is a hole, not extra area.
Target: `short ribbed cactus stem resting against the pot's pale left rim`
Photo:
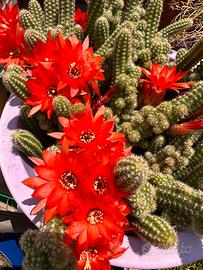
[[[27,156],[41,157],[43,146],[41,142],[29,131],[19,129],[13,134],[13,144]]]

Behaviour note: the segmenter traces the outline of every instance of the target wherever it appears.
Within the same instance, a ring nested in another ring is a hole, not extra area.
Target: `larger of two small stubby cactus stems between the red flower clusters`
[[[53,99],[54,111],[57,116],[70,117],[70,101],[63,96],[56,96]]]

